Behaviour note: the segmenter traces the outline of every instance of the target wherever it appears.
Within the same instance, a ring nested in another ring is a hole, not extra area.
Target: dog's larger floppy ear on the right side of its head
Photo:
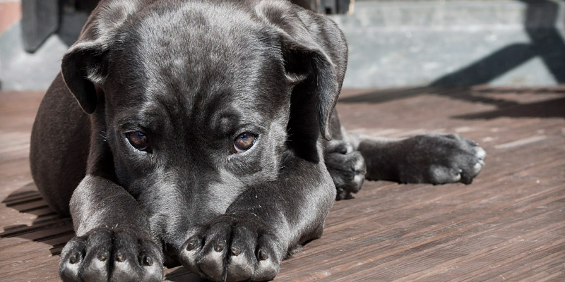
[[[294,122],[294,129],[304,136],[311,134],[308,121],[317,121],[322,137],[331,140],[331,115],[347,67],[343,33],[325,16],[286,1],[261,1],[256,11],[278,30],[287,78],[297,84],[292,92],[290,123]]]

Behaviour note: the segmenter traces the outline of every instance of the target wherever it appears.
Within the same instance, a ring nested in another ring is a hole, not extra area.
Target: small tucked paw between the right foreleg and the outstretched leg
[[[350,199],[352,193],[361,189],[367,173],[361,152],[353,151],[349,143],[340,140],[328,142],[324,152],[326,168],[338,190],[335,200]]]

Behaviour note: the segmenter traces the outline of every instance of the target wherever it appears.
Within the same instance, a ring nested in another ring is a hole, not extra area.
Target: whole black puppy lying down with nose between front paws
[[[346,63],[338,27],[283,0],[102,1],[32,132],[37,188],[76,231],[61,278],[269,280],[365,177],[471,182],[484,151],[458,135],[347,135]]]

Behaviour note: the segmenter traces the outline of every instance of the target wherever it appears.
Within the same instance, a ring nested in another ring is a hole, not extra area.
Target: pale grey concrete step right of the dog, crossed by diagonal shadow
[[[565,2],[355,2],[344,87],[565,83]]]

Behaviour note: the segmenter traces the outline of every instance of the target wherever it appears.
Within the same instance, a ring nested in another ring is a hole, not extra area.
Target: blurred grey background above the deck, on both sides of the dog
[[[350,47],[344,88],[565,82],[565,1],[295,0]],[[0,89],[45,90],[96,0],[0,0]]]

